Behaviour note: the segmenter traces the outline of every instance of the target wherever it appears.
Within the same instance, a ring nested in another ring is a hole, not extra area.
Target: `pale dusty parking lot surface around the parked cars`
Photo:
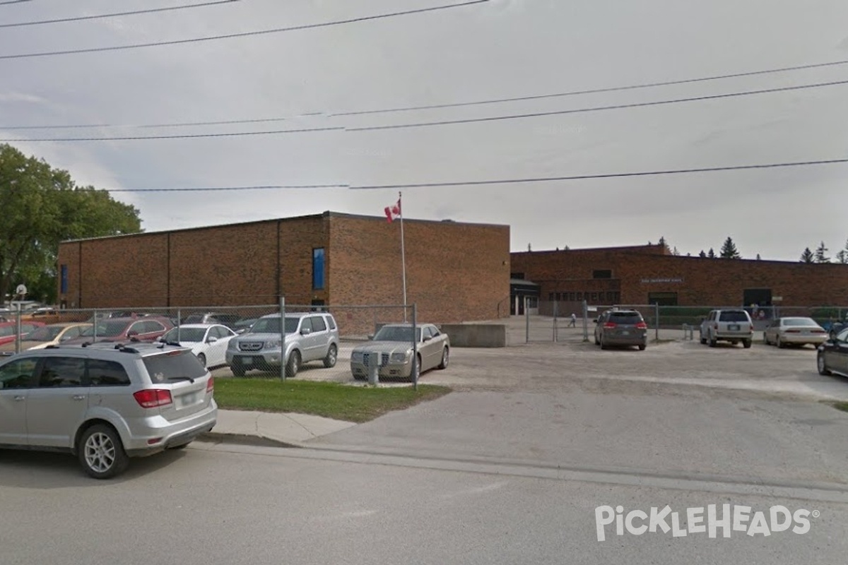
[[[695,341],[689,341],[675,330],[661,330],[661,341],[651,341],[644,352],[635,347],[602,351],[592,341],[583,342],[581,328],[560,329],[559,338],[533,343],[512,339],[514,345],[497,349],[454,347],[449,367],[427,371],[420,382],[457,390],[561,391],[575,386],[583,391],[600,387],[618,392],[650,390],[651,394],[699,387],[713,393],[848,401],[848,379],[819,375],[813,346],[778,349],[755,341],[750,349],[725,343],[711,348],[701,345],[697,334]],[[654,338],[652,331],[650,338]],[[343,344],[335,368],[307,364],[296,378],[356,383],[349,370],[352,347]],[[232,376],[229,368],[215,369],[214,374]]]

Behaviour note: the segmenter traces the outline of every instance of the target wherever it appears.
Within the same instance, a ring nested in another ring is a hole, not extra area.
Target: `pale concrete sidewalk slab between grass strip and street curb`
[[[305,441],[354,425],[353,422],[310,414],[219,409],[218,423],[203,438],[251,445],[303,447]]]

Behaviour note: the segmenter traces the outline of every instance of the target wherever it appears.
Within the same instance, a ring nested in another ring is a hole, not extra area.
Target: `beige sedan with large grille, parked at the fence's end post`
[[[412,344],[416,341],[417,363],[413,372]],[[387,324],[382,326],[371,341],[354,347],[350,353],[350,371],[354,379],[367,379],[371,356],[379,356],[381,377],[398,377],[417,380],[421,373],[431,368],[447,368],[450,339],[433,324]]]

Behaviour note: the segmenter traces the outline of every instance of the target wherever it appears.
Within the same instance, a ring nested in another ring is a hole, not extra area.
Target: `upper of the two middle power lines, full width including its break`
[[[525,96],[525,97],[513,97],[513,98],[494,98],[489,100],[478,100],[472,102],[451,102],[445,104],[431,104],[429,106],[408,106],[403,108],[384,108],[377,110],[360,110],[354,112],[339,112],[339,113],[328,113],[328,112],[310,112],[309,114],[301,114],[301,116],[315,116],[315,115],[326,115],[328,117],[336,117],[336,116],[352,116],[352,115],[361,115],[361,114],[387,114],[392,112],[409,112],[413,110],[424,110],[424,109],[435,109],[435,108],[460,108],[465,106],[478,106],[483,104],[494,104],[499,102],[521,102],[527,100],[541,100],[544,98],[555,98],[555,97],[568,97],[568,96],[577,96],[580,94],[595,94],[601,92],[615,92],[615,91],[628,91],[635,89],[643,89],[643,88],[652,88],[656,86],[672,86],[672,85],[681,85],[687,83],[694,82],[705,82],[708,80],[723,80],[730,78],[738,78],[743,76],[753,76],[753,75],[767,75],[773,73],[784,73],[793,70],[803,70],[803,69],[819,69],[823,67],[832,67],[837,65],[845,65],[848,64],[848,60],[844,61],[832,61],[829,63],[814,63],[814,64],[803,64],[795,67],[781,67],[778,69],[764,69],[764,70],[754,70],[748,71],[744,73],[734,73],[730,75],[712,75],[699,77],[694,79],[683,79],[683,80],[667,80],[664,82],[650,82],[638,85],[628,85],[628,86],[611,86],[609,88],[595,88],[591,90],[583,90],[583,91],[568,91],[568,92],[555,92],[552,94],[538,94],[533,96]],[[114,124],[70,124],[70,125],[9,125],[9,126],[0,126],[0,130],[70,130],[70,129],[86,129],[86,128],[166,128],[166,127],[185,127],[192,125],[230,125],[230,124],[258,124],[262,122],[279,122],[285,121],[290,118],[256,118],[256,119],[228,119],[228,120],[220,120],[220,121],[206,121],[206,122],[178,122],[171,124],[146,124],[146,125],[114,125]]]

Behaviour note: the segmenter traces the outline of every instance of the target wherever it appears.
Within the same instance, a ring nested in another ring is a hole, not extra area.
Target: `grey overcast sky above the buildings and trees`
[[[159,14],[0,28],[0,57],[215,36],[461,0],[241,0]],[[200,3],[34,0],[0,25]],[[845,0],[490,0],[214,42],[0,59],[0,137],[98,188],[371,186],[612,174],[848,156],[848,85],[701,102],[394,130],[351,128],[552,112],[836,80],[848,65],[678,86],[330,116],[627,86],[848,60]],[[320,113],[304,116],[303,114]],[[13,130],[21,125],[191,127]],[[343,127],[183,140],[28,141]],[[795,261],[848,238],[848,164],[404,189],[408,219],[509,224],[512,249],[640,245],[693,255],[732,236]],[[148,231],[332,210],[378,215],[398,191],[115,192]],[[449,242],[445,243],[449,245]]]

